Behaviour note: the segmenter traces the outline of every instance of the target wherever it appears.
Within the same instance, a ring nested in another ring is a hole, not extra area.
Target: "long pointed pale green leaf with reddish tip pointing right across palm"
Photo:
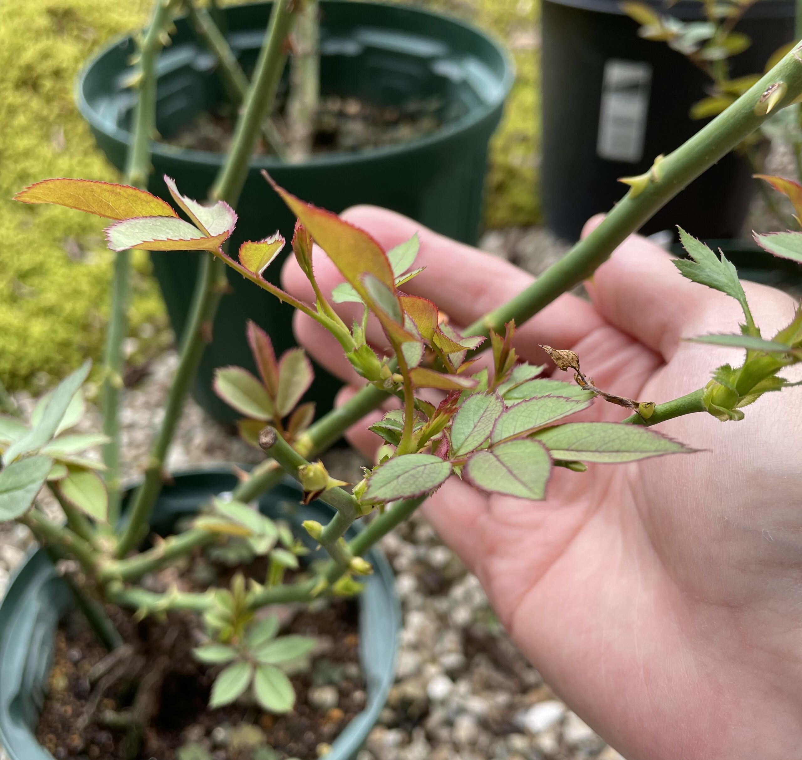
[[[634,462],[694,451],[638,425],[620,422],[569,422],[537,433],[554,459],[580,462]]]

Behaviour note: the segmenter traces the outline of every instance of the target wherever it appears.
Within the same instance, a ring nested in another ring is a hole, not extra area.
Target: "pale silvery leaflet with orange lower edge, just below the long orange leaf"
[[[170,216],[140,216],[111,224],[104,231],[112,251],[217,251],[231,234],[206,236],[193,224]]]

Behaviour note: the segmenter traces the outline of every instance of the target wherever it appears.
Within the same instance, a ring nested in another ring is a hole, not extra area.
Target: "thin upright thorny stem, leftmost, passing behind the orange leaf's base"
[[[151,142],[156,135],[156,62],[164,46],[168,27],[172,24],[180,3],[157,0],[153,14],[140,45],[139,98],[134,109],[131,148],[128,149],[125,170],[126,184],[145,189],[151,172]],[[121,475],[119,467],[119,404],[123,388],[125,357],[123,344],[128,333],[128,303],[131,300],[131,252],[115,254],[111,277],[111,315],[109,317],[106,349],[103,359],[103,432],[109,443],[103,447],[104,479],[108,487],[109,524],[119,519]]]

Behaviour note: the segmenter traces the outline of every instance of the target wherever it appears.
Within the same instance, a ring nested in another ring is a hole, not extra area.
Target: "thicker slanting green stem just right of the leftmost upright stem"
[[[213,200],[225,200],[236,207],[240,198],[253,148],[259,137],[260,124],[273,107],[278,80],[286,61],[285,42],[294,18],[294,4],[277,0],[270,14],[267,39],[257,61],[253,81],[245,99],[245,109],[237,120],[233,141],[225,165],[211,192]],[[205,347],[205,336],[213,325],[217,305],[225,284],[225,265],[207,253],[201,259],[193,305],[184,339],[176,376],[168,396],[164,421],[151,452],[145,479],[133,497],[131,518],[120,538],[117,556],[125,556],[144,538],[148,523],[161,490],[162,468],[172,442],[181,406],[192,383]]]

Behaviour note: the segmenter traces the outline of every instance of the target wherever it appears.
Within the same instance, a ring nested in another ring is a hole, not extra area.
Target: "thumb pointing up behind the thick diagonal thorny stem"
[[[594,216],[589,220],[582,236],[602,219]],[[702,325],[706,332],[731,331],[743,321],[734,299],[687,280],[668,253],[640,235],[632,235],[619,245],[586,286],[593,305],[606,321],[656,351],[666,362],[677,351],[681,338],[698,334]],[[772,312],[786,302],[792,303],[772,288],[744,283],[744,289],[755,294],[760,312],[767,306]]]

